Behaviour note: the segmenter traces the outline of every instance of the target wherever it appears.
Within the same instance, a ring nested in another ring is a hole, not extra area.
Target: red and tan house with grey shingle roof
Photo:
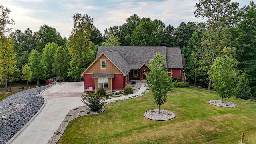
[[[184,55],[180,47],[166,46],[119,46],[99,47],[96,59],[81,76],[84,76],[84,91],[92,87],[93,91],[104,88],[107,92],[124,91],[130,80],[146,79],[146,66],[154,55],[160,52],[166,56],[166,68],[173,78],[184,77]]]

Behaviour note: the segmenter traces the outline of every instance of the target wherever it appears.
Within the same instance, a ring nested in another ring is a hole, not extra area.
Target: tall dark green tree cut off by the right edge
[[[256,2],[242,8],[242,22],[238,24],[234,46],[234,57],[240,63],[238,69],[246,73],[251,90],[256,88]],[[253,92],[252,92],[253,94]]]

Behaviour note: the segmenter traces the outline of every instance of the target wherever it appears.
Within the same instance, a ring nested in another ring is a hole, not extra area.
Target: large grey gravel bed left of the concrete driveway
[[[44,98],[36,95],[50,86],[22,90],[0,101],[0,144],[8,142],[38,112]]]

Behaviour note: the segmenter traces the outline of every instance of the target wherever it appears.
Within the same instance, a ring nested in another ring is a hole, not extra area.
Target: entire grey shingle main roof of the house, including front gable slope
[[[104,52],[108,58],[122,72],[128,74],[132,69],[138,69],[150,59],[154,59],[154,55],[160,52],[162,56],[166,56],[167,68],[183,68],[182,55],[180,47],[166,46],[118,46],[118,47],[102,47],[98,48],[97,57]]]

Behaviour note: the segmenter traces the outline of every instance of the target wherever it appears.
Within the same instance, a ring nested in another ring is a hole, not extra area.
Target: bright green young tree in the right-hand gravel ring
[[[214,60],[212,68],[208,71],[210,80],[214,83],[213,88],[217,90],[217,94],[223,98],[230,98],[236,95],[236,80],[238,75],[238,61],[232,56],[222,56]]]

